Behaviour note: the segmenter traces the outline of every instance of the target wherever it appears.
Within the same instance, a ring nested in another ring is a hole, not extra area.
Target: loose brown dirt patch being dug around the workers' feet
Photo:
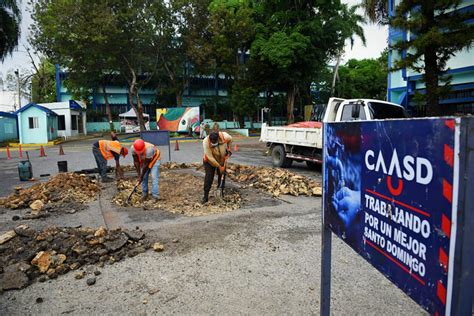
[[[169,167],[165,167],[168,170],[165,169],[160,173],[159,189],[162,198],[160,201],[153,201],[152,199],[142,201],[141,187],[139,187],[138,192],[132,195],[130,204],[127,205],[127,198],[132,192],[136,182],[135,180],[123,180],[118,185],[118,193],[113,198],[113,202],[121,206],[160,209],[174,214],[184,214],[186,216],[225,213],[241,207],[242,197],[237,189],[226,188],[224,198],[216,198],[214,196],[215,182],[209,196],[209,202],[201,204],[203,178],[187,172],[172,170],[196,166],[197,164],[185,165],[184,167],[182,164],[171,164]]]

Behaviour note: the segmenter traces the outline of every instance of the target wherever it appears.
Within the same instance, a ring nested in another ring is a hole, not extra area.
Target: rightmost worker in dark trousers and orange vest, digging
[[[206,203],[209,200],[209,191],[214,181],[214,174],[217,169],[217,188],[221,188],[222,192],[225,187],[225,177],[222,180],[222,176],[225,173],[226,161],[232,155],[230,151],[232,145],[232,136],[226,132],[211,132],[209,136],[206,136],[202,141],[204,149],[204,170],[206,175],[204,177],[204,197],[202,203]],[[221,181],[222,180],[222,181]]]

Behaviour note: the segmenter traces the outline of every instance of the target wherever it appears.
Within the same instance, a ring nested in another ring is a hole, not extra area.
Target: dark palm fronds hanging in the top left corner
[[[13,52],[20,38],[21,11],[16,0],[0,0],[0,61]]]

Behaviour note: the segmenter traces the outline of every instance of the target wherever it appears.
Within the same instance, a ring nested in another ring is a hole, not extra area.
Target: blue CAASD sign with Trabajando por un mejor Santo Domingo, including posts
[[[470,315],[474,118],[324,124],[321,315],[331,232],[431,314]]]

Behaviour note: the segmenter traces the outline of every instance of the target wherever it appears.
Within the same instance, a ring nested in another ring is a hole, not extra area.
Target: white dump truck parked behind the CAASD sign
[[[323,124],[355,120],[378,120],[407,117],[398,104],[372,99],[329,99],[316,109],[315,121],[288,126],[262,124],[260,141],[265,142],[275,167],[290,167],[293,161],[305,161],[309,168],[321,165]]]

